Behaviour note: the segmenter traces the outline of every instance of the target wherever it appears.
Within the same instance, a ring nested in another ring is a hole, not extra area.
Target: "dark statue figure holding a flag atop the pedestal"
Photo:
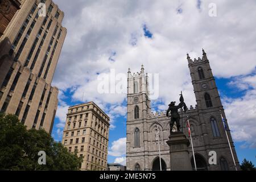
[[[170,134],[172,133],[172,127],[174,127],[174,122],[176,122],[177,131],[180,131],[180,114],[178,113],[178,109],[181,108],[181,119],[182,119],[182,112],[187,111],[187,106],[184,102],[184,98],[182,96],[182,92],[180,94],[180,104],[175,106],[175,101],[172,101],[168,106],[168,110],[166,111],[166,116],[171,117],[170,120]],[[183,109],[182,109],[183,108]],[[169,112],[171,111],[171,114]],[[181,123],[182,124],[182,123]]]

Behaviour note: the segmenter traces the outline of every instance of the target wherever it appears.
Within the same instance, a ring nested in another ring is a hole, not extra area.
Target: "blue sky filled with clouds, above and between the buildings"
[[[159,74],[153,110],[166,109],[168,102],[179,99],[180,90],[187,105],[195,106],[186,53],[197,59],[204,48],[238,158],[256,164],[254,0],[242,6],[222,0],[54,2],[64,11],[68,30],[52,82],[60,90],[55,140],[61,140],[68,106],[94,101],[111,118],[108,162],[124,163],[126,94],[100,94],[98,77],[113,70],[126,76],[128,68],[136,73],[143,64],[146,72]],[[210,16],[212,7],[216,16]]]

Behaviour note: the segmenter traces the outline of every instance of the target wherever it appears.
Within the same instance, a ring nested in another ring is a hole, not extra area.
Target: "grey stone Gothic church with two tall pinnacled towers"
[[[197,169],[234,170],[234,163],[220,110],[224,118],[225,113],[214,81],[212,69],[207,59],[207,54],[203,50],[202,59],[199,58],[198,60],[195,59],[192,61],[189,55],[187,55],[187,60],[197,105],[195,107],[190,106],[186,113],[183,112],[183,126],[181,127],[184,134],[188,137],[186,125],[187,116],[189,116]],[[143,66],[140,73],[133,75],[129,69],[127,89],[127,169],[159,170],[158,140],[156,140],[156,131],[158,128],[160,133],[162,168],[170,170],[170,148],[166,143],[170,135],[170,119],[166,117],[166,112],[151,113],[148,77],[147,73],[144,73]],[[227,132],[234,158],[239,168],[229,127]],[[209,151],[216,151],[216,165],[209,165]],[[192,167],[195,168],[191,145],[189,146],[189,155]]]

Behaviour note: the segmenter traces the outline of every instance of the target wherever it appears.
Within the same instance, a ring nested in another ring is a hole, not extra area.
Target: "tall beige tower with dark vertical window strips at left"
[[[19,2],[0,38],[0,110],[18,115],[28,129],[51,133],[59,92],[51,82],[67,34],[64,13],[51,0]],[[43,9],[46,16],[38,13]]]

